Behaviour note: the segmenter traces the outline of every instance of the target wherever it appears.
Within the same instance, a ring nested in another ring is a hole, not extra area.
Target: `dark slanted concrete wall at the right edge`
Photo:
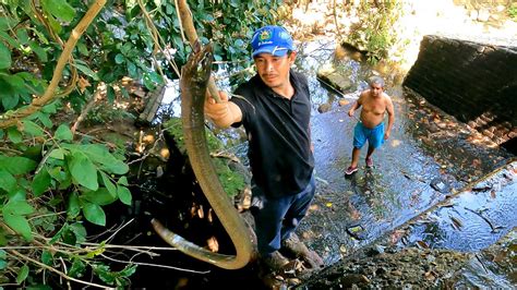
[[[517,48],[425,36],[404,86],[517,154]]]

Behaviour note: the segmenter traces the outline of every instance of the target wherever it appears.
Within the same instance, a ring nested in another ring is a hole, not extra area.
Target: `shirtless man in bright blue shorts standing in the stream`
[[[352,162],[345,171],[346,176],[358,171],[359,154],[366,141],[366,167],[373,167],[372,154],[389,137],[395,121],[392,98],[384,93],[384,80],[380,76],[370,78],[370,88],[361,93],[348,111],[348,116],[353,117],[361,106],[361,118],[353,130]],[[385,112],[388,114],[386,131],[384,130]]]

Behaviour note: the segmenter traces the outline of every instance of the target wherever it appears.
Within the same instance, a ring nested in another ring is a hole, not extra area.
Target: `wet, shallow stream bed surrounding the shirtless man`
[[[458,193],[461,198],[455,201],[461,205],[443,207],[433,213],[435,222],[412,227],[405,235],[410,241],[407,245],[417,241],[428,244],[428,240],[432,240],[429,247],[476,252],[495,243],[517,226],[513,210],[517,205],[515,170],[507,169],[503,176],[495,177],[505,185],[493,180],[489,185],[476,183],[504,167],[513,155],[421,96],[402,89],[396,83],[396,75],[383,75],[387,80],[386,92],[395,105],[392,136],[375,152],[372,169],[365,168],[363,148],[359,171],[345,178],[357,122],[346,112],[365,87],[365,80],[376,72],[350,55],[336,58],[332,44],[309,44],[301,55],[302,61],[297,64],[310,76],[325,62],[348,72],[345,74],[348,82],[344,83],[349,87],[338,87],[340,93],[325,89],[315,77],[310,78],[314,108],[326,102],[332,109],[325,113],[314,110],[312,134],[318,190],[299,235],[327,265],[414,217],[424,218],[422,213]],[[346,105],[339,106],[339,102]],[[479,188],[473,193],[466,190],[471,184]],[[485,188],[491,192],[489,200],[479,194]],[[458,230],[452,230],[444,220],[449,223],[453,220],[453,225],[460,222],[462,229],[456,232]],[[490,222],[496,229],[486,231]]]

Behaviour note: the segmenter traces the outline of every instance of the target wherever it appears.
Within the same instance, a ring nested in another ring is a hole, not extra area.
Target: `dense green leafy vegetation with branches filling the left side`
[[[252,32],[278,21],[279,1],[188,2],[202,43],[236,70]],[[191,49],[175,2],[0,0],[0,285],[124,286],[136,266],[100,262],[109,241],[89,243],[85,225],[131,205],[128,153],[77,126],[100,100],[129,98],[123,77],[147,89],[178,77]]]

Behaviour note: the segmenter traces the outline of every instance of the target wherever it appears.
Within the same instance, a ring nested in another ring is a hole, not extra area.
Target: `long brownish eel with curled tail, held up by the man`
[[[250,231],[220,184],[206,142],[204,101],[211,75],[212,58],[212,47],[208,45],[201,48],[197,43],[189,61],[182,68],[180,80],[181,120],[187,154],[192,169],[203,193],[233,242],[236,255],[213,253],[173,233],[156,219],[151,222],[161,239],[181,252],[225,269],[239,269],[248,264],[253,250]]]

